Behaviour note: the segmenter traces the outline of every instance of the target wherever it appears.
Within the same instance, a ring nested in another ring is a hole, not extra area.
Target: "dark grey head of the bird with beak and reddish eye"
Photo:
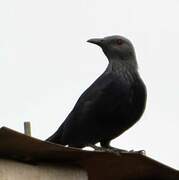
[[[89,39],[87,42],[100,46],[110,60],[135,60],[132,43],[122,36]]]

